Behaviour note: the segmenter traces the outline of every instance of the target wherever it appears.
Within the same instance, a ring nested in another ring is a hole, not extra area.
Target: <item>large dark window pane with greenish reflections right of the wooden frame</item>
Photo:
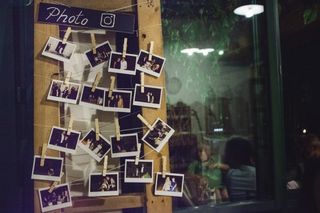
[[[185,174],[175,207],[272,194],[265,12],[238,3],[162,1],[171,170]]]

